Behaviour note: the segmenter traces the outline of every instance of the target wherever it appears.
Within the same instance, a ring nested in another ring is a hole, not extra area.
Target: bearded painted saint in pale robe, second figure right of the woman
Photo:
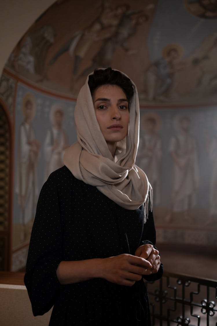
[[[176,136],[170,140],[169,152],[173,161],[173,186],[170,213],[183,212],[189,219],[189,210],[196,204],[196,194],[199,187],[199,162],[195,139],[190,135],[190,119],[187,116],[177,116],[175,122],[179,129]]]

